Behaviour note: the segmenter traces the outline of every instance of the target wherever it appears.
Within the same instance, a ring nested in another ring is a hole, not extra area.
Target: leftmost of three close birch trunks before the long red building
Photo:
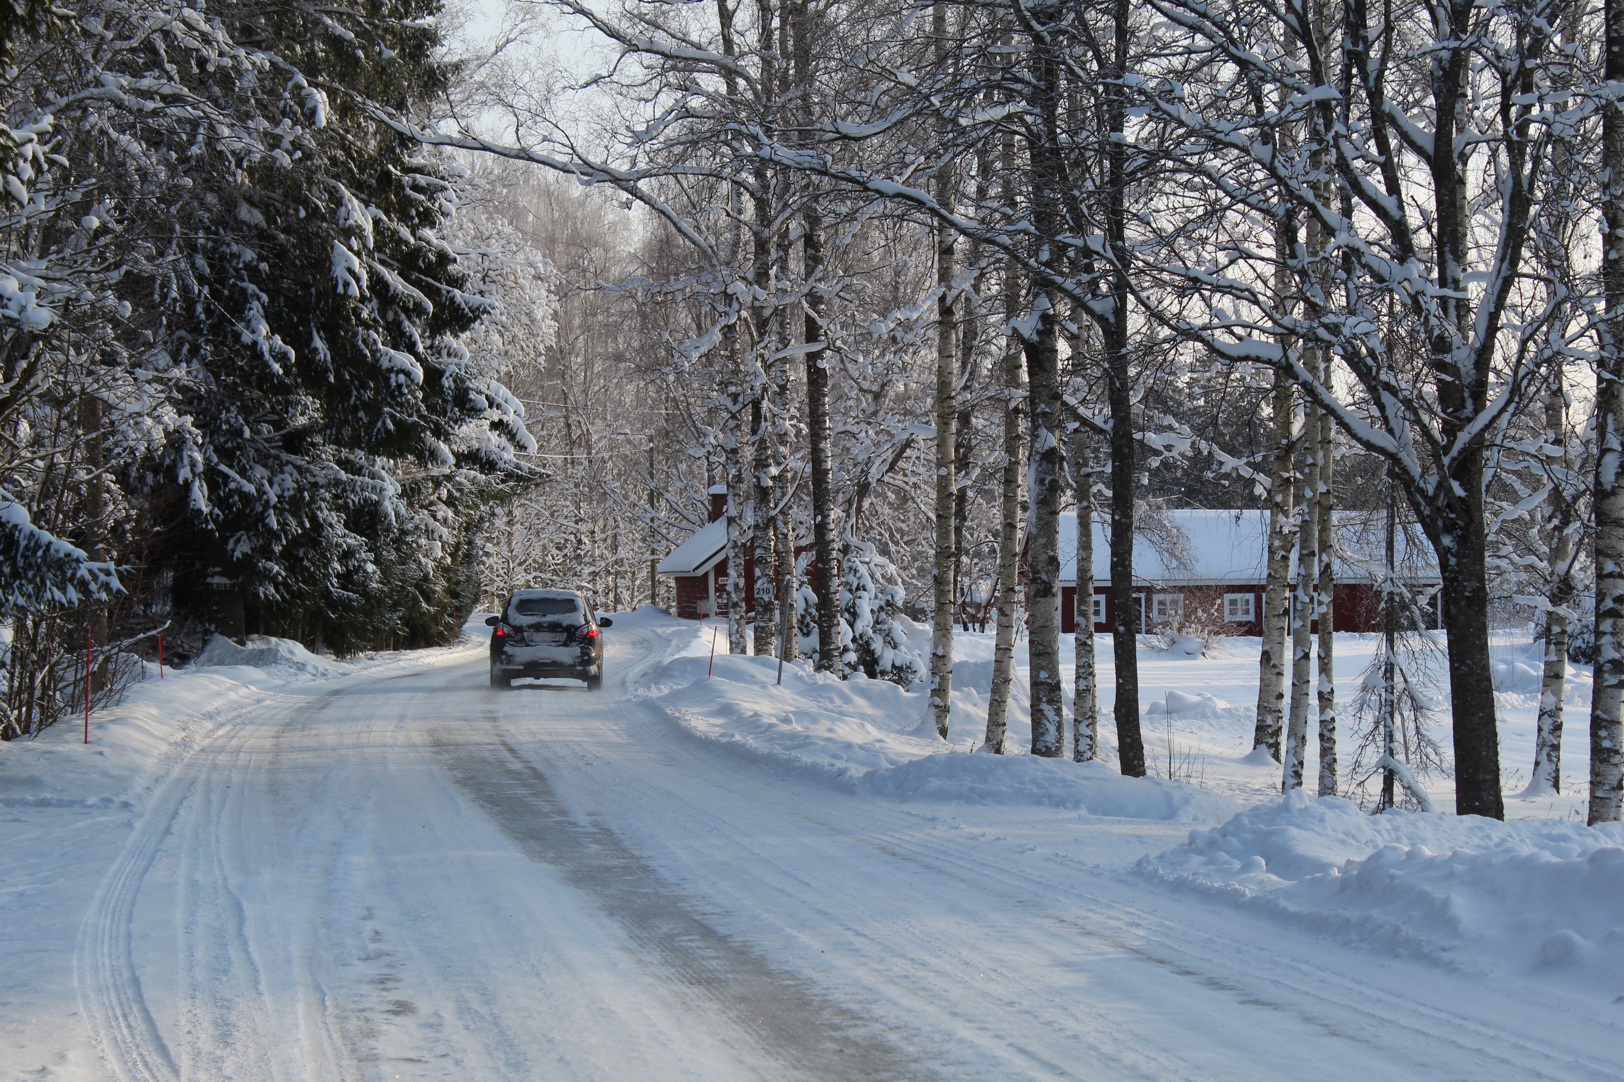
[[[1263,646],[1257,655],[1257,727],[1252,746],[1268,748],[1280,762],[1280,738],[1286,717],[1286,634],[1291,621],[1291,547],[1296,543],[1293,493],[1296,492],[1291,435],[1291,381],[1275,370],[1275,453],[1268,469],[1268,571],[1259,623]]]

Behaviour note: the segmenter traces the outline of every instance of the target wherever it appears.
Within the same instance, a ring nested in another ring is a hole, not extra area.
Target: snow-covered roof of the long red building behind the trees
[[[1153,543],[1140,532],[1134,537],[1134,581],[1145,584],[1233,584],[1263,582],[1268,574],[1267,511],[1164,511],[1182,534],[1182,552]],[[1385,517],[1372,511],[1337,511],[1337,579],[1372,581],[1384,561]],[[1111,550],[1106,519],[1095,516],[1095,582],[1111,579]],[[1400,530],[1397,558],[1405,577],[1437,576],[1431,547],[1410,527]],[[1293,571],[1296,547],[1293,547]],[[1077,516],[1060,516],[1060,582],[1077,584]]]

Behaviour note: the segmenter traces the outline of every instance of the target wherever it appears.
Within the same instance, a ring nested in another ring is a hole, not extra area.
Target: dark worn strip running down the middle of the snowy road
[[[921,1067],[918,1051],[896,1048],[879,1027],[827,999],[807,978],[700,920],[677,887],[612,831],[573,818],[499,722],[490,720],[477,736],[434,727],[427,738],[458,787],[528,857],[557,868],[620,925],[658,964],[656,977],[703,996],[778,1061],[781,1069],[770,1077],[934,1077]]]

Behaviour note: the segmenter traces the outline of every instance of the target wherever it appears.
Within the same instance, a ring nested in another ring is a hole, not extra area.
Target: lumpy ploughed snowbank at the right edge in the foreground
[[[1393,954],[1624,991],[1624,824],[1371,816],[1296,790],[1138,866]]]

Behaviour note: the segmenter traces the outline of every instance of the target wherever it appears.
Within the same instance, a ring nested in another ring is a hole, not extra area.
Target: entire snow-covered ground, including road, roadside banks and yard
[[[1275,796],[1255,642],[1140,652],[1130,780],[1104,638],[1073,764],[971,754],[991,636],[944,743],[922,693],[711,668],[653,610],[603,694],[490,691],[484,631],[218,644],[88,748],[0,745],[0,1080],[1624,1077],[1624,831],[1582,787],[1505,824]],[[1536,676],[1497,660],[1515,792]]]

